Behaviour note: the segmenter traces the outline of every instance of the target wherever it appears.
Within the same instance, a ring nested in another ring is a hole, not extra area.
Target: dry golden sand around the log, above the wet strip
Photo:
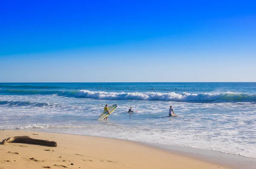
[[[36,134],[36,135],[35,135]],[[38,135],[37,135],[38,134]],[[133,141],[59,133],[1,130],[5,138],[28,135],[56,141],[57,147],[9,143],[0,145],[0,169],[224,169],[207,163],[137,144]],[[73,163],[73,165],[71,165]]]

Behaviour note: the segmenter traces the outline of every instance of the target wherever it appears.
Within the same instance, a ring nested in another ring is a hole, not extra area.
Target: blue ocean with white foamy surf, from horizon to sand
[[[98,121],[105,104],[117,109]],[[178,117],[169,117],[169,107]],[[132,107],[134,113],[128,113]],[[256,158],[256,83],[0,83],[0,129],[189,146]]]

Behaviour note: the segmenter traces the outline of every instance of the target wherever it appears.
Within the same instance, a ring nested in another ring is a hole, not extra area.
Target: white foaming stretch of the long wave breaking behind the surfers
[[[116,92],[94,92],[89,90],[79,90],[75,94],[77,97],[105,100],[160,100],[160,101],[183,101],[183,102],[256,102],[256,94],[245,93],[116,93]]]

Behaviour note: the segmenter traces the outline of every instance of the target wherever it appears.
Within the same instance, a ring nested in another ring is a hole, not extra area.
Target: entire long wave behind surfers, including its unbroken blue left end
[[[102,100],[159,100],[183,102],[256,102],[256,94],[247,93],[160,93],[160,92],[104,92],[90,90],[0,90],[3,95],[55,95]],[[0,102],[0,104],[5,104]],[[30,104],[15,103],[8,104]],[[34,103],[32,103],[34,104]]]

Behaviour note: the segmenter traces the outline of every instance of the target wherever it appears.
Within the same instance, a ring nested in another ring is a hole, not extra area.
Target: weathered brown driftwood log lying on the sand
[[[2,141],[2,144],[5,144],[5,143],[26,143],[26,144],[40,144],[44,146],[57,146],[57,143],[55,141],[39,140],[39,139],[31,138],[29,136],[10,137]]]

